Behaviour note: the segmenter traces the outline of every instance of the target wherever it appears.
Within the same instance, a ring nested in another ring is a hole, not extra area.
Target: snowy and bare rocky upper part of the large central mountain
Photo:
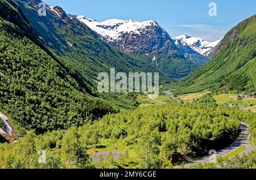
[[[183,58],[168,33],[154,20],[109,19],[97,22],[77,16],[82,23],[98,33],[108,44],[130,54],[169,54],[172,58]]]

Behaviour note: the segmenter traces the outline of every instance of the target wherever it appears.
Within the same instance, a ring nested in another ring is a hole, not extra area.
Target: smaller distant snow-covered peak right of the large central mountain
[[[193,50],[205,56],[207,56],[208,55],[207,53],[221,41],[221,40],[217,40],[215,42],[208,42],[203,40],[203,38],[191,37],[187,35],[178,36],[175,39],[185,42]]]

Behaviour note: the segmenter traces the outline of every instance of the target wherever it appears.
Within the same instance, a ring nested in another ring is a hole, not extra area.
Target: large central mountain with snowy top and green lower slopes
[[[183,78],[209,61],[208,57],[193,51],[183,52],[175,40],[154,20],[144,22],[130,19],[109,19],[97,22],[83,15],[76,16],[88,25],[102,40],[139,61],[146,62],[171,78]]]

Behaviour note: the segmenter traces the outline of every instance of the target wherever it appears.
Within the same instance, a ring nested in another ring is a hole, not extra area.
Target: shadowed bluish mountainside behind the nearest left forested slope
[[[39,16],[39,2],[42,1],[24,0],[18,4],[24,14],[28,14],[27,19],[44,46],[54,50],[56,57],[64,57],[65,64],[74,67],[85,78],[96,78],[99,72],[109,71],[110,67],[122,72],[156,71],[134,62],[134,59],[106,44],[90,28],[73,16],[68,16],[59,6],[47,5],[47,15]],[[60,12],[61,16],[56,12]]]

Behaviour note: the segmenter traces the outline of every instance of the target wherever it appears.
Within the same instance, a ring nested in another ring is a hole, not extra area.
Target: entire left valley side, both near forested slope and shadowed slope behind
[[[36,132],[80,126],[134,97],[97,92],[98,72],[155,72],[100,40],[86,25],[41,1],[0,1],[0,109]],[[107,102],[108,101],[108,102]]]

